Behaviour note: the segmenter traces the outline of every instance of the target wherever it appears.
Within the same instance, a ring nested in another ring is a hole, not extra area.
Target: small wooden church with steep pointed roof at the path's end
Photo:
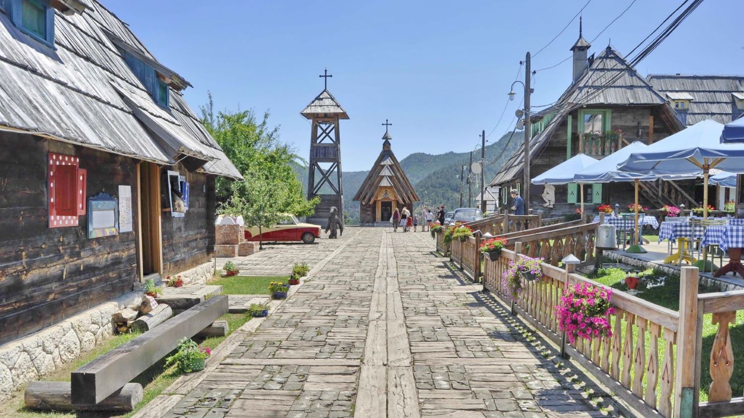
[[[385,121],[383,124],[385,135],[382,136],[382,152],[354,196],[354,201],[359,202],[359,221],[362,225],[388,226],[395,208],[403,210],[405,207],[413,213],[414,202],[419,200],[390,147],[392,138],[387,129],[389,123]]]

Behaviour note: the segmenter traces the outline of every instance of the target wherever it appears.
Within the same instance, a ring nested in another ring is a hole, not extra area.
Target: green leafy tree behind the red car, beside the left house
[[[269,112],[263,113],[260,122],[253,109],[215,113],[211,93],[208,103],[199,109],[205,128],[246,179],[246,183],[263,181],[266,182],[263,184],[266,188],[277,193],[281,191],[279,194],[272,192],[272,196],[280,199],[272,203],[276,205],[277,213],[308,216],[313,212],[320,199],[308,201],[304,198],[302,183],[292,168],[293,163],[304,164],[305,161],[295,153],[293,147],[280,141],[279,126],[269,127]],[[231,183],[228,179],[217,179],[218,202],[225,204],[236,193],[240,202],[246,201],[248,196],[244,193],[249,193],[248,187]],[[247,219],[245,215],[243,217]]]

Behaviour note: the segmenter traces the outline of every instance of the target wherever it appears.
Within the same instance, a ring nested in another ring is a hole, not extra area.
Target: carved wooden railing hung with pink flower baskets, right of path
[[[542,263],[542,277],[524,283],[520,297],[510,302],[507,290],[501,285],[501,274],[510,261],[525,257],[519,254],[522,251],[521,242],[516,244],[515,250],[504,249],[498,260],[485,260],[484,286],[487,290],[511,303],[513,313],[522,315],[547,338],[559,344],[563,356],[572,358],[589,370],[616,396],[640,412],[642,417],[691,416],[679,414],[679,408],[684,408],[684,402],[687,401],[682,398],[682,394],[687,393],[687,387],[684,386],[684,379],[680,378],[687,376],[685,373],[689,370],[685,370],[685,367],[691,363],[675,362],[673,355],[675,344],[679,345],[679,341],[684,341],[683,338],[688,338],[690,334],[689,331],[678,332],[681,324],[686,324],[678,312],[624,292],[615,292],[611,300],[615,308],[610,318],[612,338],[579,340],[571,346],[565,334],[559,330],[554,315],[565,287],[580,282],[602,285],[574,274],[574,265],[560,269]],[[682,286],[686,290],[681,292],[680,306],[685,306],[683,298],[687,298],[693,287],[697,288],[696,273],[684,273]],[[694,337],[694,330],[692,333]],[[691,347],[695,347],[695,344],[691,344]],[[677,350],[677,358],[691,358],[689,353],[687,356],[680,354],[681,347]]]

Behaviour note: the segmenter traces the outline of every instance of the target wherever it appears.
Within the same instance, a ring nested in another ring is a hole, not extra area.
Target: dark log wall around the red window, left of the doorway
[[[88,196],[117,196],[118,185],[135,186],[132,158],[5,132],[0,143],[3,344],[118,298],[137,279],[134,232],[88,239],[85,215],[77,227],[48,228],[48,152],[80,158],[80,168],[88,170]]]

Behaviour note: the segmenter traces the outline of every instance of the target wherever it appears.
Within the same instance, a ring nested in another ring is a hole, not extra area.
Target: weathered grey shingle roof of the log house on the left
[[[126,24],[95,0],[85,4],[83,13],[55,12],[54,50],[0,12],[0,126],[173,164],[173,150],[143,124],[151,119],[183,153],[210,161],[201,170],[242,179],[177,91],[169,109],[155,105],[106,33],[155,60]]]

